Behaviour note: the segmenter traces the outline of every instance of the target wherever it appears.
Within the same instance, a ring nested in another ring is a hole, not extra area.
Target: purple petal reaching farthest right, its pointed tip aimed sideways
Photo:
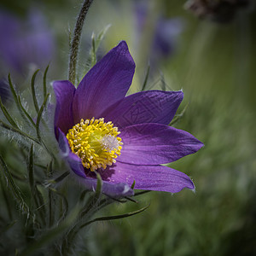
[[[117,160],[135,165],[167,164],[203,146],[189,132],[160,124],[127,126],[119,137],[124,145]]]

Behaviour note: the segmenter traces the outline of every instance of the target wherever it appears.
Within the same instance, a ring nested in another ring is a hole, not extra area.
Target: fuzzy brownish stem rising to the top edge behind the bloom
[[[83,6],[80,10],[76,26],[73,31],[73,39],[70,46],[70,56],[69,56],[69,70],[68,70],[68,80],[75,84],[76,80],[76,67],[78,62],[78,52],[79,52],[79,44],[81,33],[84,25],[84,19],[87,15],[88,9],[90,8],[90,4],[93,0],[85,0]]]

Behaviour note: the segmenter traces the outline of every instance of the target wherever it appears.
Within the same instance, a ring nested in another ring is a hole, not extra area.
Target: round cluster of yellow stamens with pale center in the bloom
[[[116,162],[123,145],[119,133],[112,122],[105,123],[103,118],[81,119],[67,132],[67,140],[83,166],[94,172]]]

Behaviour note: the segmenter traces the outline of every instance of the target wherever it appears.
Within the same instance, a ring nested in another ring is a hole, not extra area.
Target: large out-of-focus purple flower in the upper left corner
[[[53,57],[55,43],[44,16],[32,9],[26,20],[0,10],[0,57],[2,72],[22,74],[30,64],[45,66]]]

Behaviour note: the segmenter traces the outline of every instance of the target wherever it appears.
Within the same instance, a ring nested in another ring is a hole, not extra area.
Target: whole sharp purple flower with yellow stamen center
[[[135,63],[125,41],[111,49],[76,89],[55,81],[55,135],[62,155],[81,183],[102,192],[132,195],[135,189],[176,193],[195,189],[191,179],[160,166],[193,154],[203,144],[168,124],[183,100],[182,91],[142,91],[125,96]]]

